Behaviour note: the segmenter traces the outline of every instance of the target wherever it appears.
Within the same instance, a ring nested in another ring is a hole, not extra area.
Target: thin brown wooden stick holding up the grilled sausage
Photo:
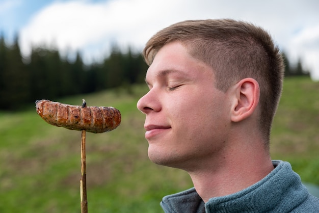
[[[83,99],[83,108],[86,108],[85,99]],[[86,130],[82,130],[81,136],[81,179],[80,179],[80,197],[81,197],[81,213],[88,213],[87,200],[87,166],[86,166],[86,151],[85,151]]]

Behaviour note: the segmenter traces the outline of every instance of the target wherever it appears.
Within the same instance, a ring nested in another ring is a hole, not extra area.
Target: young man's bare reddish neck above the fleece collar
[[[263,143],[252,143],[253,146],[248,143],[246,146],[245,143],[236,143],[241,146],[228,147],[228,150],[220,156],[208,159],[196,170],[188,171],[197,193],[204,202],[212,197],[241,191],[258,182],[274,169]]]

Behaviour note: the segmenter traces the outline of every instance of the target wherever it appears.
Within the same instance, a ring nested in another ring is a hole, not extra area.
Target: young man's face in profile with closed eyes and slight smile
[[[152,162],[190,170],[222,153],[230,104],[227,93],[214,87],[209,66],[172,42],[156,54],[146,83],[149,92],[137,107],[146,115],[145,138]]]

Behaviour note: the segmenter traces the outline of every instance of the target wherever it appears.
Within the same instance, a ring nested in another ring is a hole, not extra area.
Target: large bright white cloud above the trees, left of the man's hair
[[[155,4],[143,0],[56,2],[37,13],[21,30],[21,50],[29,55],[31,46],[46,44],[64,53],[83,50],[85,60],[90,61],[103,58],[112,43],[141,49],[158,30],[153,20],[165,16],[167,4],[168,0]],[[155,7],[157,12],[144,7]]]

